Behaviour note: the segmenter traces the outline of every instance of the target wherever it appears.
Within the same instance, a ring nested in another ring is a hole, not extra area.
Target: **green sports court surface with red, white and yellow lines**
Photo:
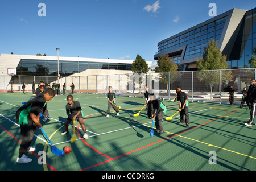
[[[67,94],[70,94],[69,92]],[[82,137],[76,122],[77,140],[71,143],[69,134],[61,135],[67,118],[65,96],[55,96],[47,102],[51,118],[42,126],[54,146],[71,152],[57,156],[51,152],[47,139],[37,129],[28,152],[31,163],[16,163],[20,146],[20,127],[15,113],[31,93],[0,93],[0,170],[1,171],[254,171],[256,169],[255,122],[245,126],[250,110],[238,105],[189,103],[191,124],[179,124],[179,114],[170,121],[163,119],[165,133],[150,136],[152,120],[146,109],[138,117],[134,114],[144,106],[144,98],[120,96],[119,116],[112,108],[106,118],[108,101],[105,94],[75,93],[84,111],[89,139]],[[162,100],[167,106],[164,116],[178,110],[178,102]],[[72,123],[71,123],[72,124]],[[155,125],[154,125],[155,128]],[[44,156],[45,154],[45,156]],[[44,156],[44,158],[43,158]],[[43,159],[43,162],[42,162]]]

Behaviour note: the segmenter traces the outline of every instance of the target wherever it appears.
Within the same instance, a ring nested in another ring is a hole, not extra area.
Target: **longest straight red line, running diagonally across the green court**
[[[233,111],[232,113],[236,113],[237,111],[239,111],[239,109],[236,110],[236,111]],[[232,113],[229,113],[229,114],[232,114]],[[229,115],[229,114],[226,114],[226,115]],[[96,166],[100,166],[101,164],[105,164],[105,163],[107,163],[107,162],[110,162],[110,161],[112,161],[112,160],[114,160],[114,159],[121,158],[122,156],[131,154],[131,153],[136,152],[136,151],[138,151],[138,150],[141,150],[141,149],[143,149],[143,148],[152,146],[153,144],[156,144],[156,143],[162,142],[162,141],[164,141],[164,140],[167,140],[167,139],[169,139],[169,138],[175,137],[176,135],[180,135],[180,134],[185,133],[185,132],[187,132],[187,131],[189,131],[189,130],[195,129],[196,127],[206,125],[206,124],[208,124],[208,123],[210,123],[210,122],[212,122],[212,121],[216,121],[217,119],[223,118],[223,117],[225,117],[226,115],[222,115],[221,117],[215,118],[215,119],[213,119],[213,120],[211,120],[211,121],[208,121],[208,122],[206,122],[206,123],[203,123],[203,124],[201,124],[201,125],[192,127],[191,129],[182,131],[182,132],[180,132],[180,133],[178,133],[178,134],[174,134],[174,135],[172,135],[172,136],[170,136],[170,137],[164,138],[164,139],[159,140],[159,141],[157,141],[157,142],[147,144],[146,146],[143,146],[143,147],[141,147],[141,148],[137,148],[137,149],[135,149],[135,150],[133,150],[133,151],[127,152],[126,154],[122,154],[122,155],[119,155],[119,156],[117,156],[117,157],[115,157],[115,158],[112,158],[112,159],[109,159],[109,160],[105,160],[104,162],[101,162],[101,163],[98,163],[98,164],[94,164],[93,166],[90,166],[90,167],[81,169],[81,171],[85,171],[85,170],[87,170],[87,169],[90,169],[90,168],[93,168],[93,167],[96,167]]]

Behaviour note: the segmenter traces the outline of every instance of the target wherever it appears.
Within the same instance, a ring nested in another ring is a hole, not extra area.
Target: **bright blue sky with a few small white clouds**
[[[46,16],[39,16],[39,3]],[[94,57],[154,61],[157,44],[233,8],[255,0],[1,0],[0,54]]]

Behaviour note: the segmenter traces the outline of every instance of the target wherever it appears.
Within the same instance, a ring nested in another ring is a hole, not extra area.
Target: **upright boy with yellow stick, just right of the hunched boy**
[[[177,87],[177,101],[179,101],[179,111],[180,111],[180,124],[186,123],[186,127],[190,123],[189,115],[188,115],[188,97],[185,92],[181,91],[181,87]],[[185,115],[185,118],[184,118]]]

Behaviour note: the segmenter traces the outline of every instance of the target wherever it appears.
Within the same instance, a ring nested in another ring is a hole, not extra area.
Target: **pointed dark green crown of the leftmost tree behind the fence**
[[[140,55],[136,56],[136,59],[131,64],[131,71],[134,73],[147,73],[150,70],[146,61],[142,59]]]

